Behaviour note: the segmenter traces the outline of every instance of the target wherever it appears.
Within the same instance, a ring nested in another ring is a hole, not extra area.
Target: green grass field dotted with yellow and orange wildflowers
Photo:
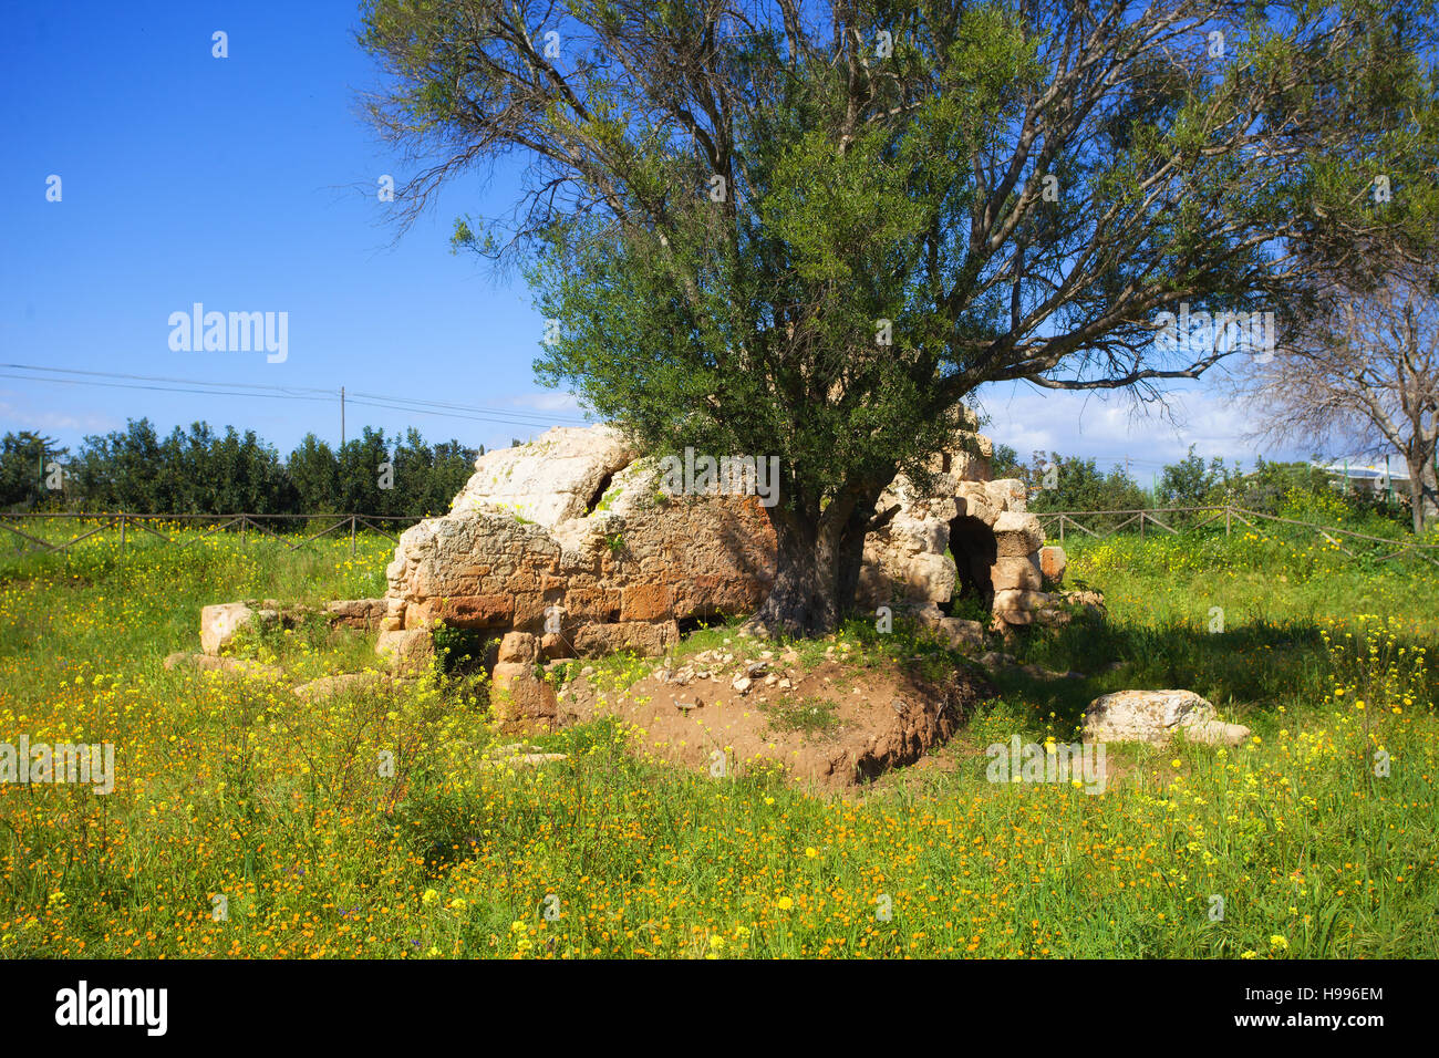
[[[0,741],[114,743],[118,772],[109,796],[0,786],[0,956],[1439,954],[1439,570],[1259,531],[1066,543],[1108,620],[1019,652],[1089,678],[999,678],[934,767],[849,799],[668,769],[612,721],[534,740],[568,754],[548,769],[482,769],[482,677],[291,694],[374,665],[361,635],[245,643],[289,681],[161,666],[206,603],[380,594],[380,537],[0,554]],[[856,665],[917,649],[842,638]],[[648,668],[602,666],[616,694]],[[1111,747],[1098,796],[986,780],[987,744],[1068,741],[1130,687],[1253,738]]]

